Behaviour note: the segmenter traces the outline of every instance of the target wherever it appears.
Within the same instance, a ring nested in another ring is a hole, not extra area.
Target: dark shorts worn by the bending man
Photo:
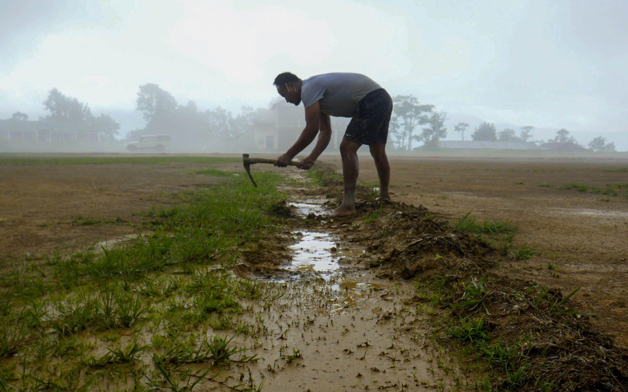
[[[393,98],[383,88],[365,95],[347,125],[345,139],[359,144],[386,144],[388,124],[393,114]]]

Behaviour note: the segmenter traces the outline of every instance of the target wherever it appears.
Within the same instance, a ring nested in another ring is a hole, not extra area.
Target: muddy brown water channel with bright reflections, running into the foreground
[[[338,223],[324,218],[321,199],[293,199],[289,205],[301,218],[323,217],[314,227],[290,233],[295,242],[284,273],[263,280],[284,292],[262,313],[270,340],[258,340],[252,352],[263,360],[248,365],[260,369],[264,390],[453,386],[451,374],[458,372],[447,359],[436,361],[425,309],[409,305],[413,285],[377,278],[364,250],[344,242],[333,229]]]

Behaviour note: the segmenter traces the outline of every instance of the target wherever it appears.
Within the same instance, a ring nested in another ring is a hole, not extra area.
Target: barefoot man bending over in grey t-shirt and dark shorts
[[[295,106],[303,101],[305,129],[288,151],[281,154],[275,166],[288,166],[296,154],[315,139],[311,154],[301,161],[301,169],[312,167],[332,136],[329,116],[352,117],[340,143],[344,198],[332,216],[350,215],[355,211],[355,183],[359,171],[357,149],[366,144],[379,176],[379,197],[390,199],[390,165],[386,157],[388,124],[393,112],[391,96],[379,84],[359,73],[323,73],[301,80],[290,72],[277,75],[273,83],[281,97]]]

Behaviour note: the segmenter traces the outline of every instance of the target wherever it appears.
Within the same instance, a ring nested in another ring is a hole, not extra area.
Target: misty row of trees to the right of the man
[[[397,151],[411,151],[413,141],[423,142],[427,149],[438,147],[438,140],[447,137],[446,112],[438,112],[434,105],[423,104],[413,95],[397,95],[393,97],[393,114],[389,126],[389,144]],[[454,126],[454,131],[458,132],[465,140],[465,132],[469,124],[458,122]],[[482,122],[471,134],[472,140],[477,141],[497,141],[497,142],[531,142],[533,138],[533,125],[521,127],[519,135],[511,128],[497,131],[494,123]],[[538,144],[543,144],[544,140],[534,140]],[[556,136],[548,139],[547,142],[570,142],[581,146],[575,137],[569,135],[566,129],[560,129]],[[615,151],[614,142],[607,143],[603,136],[598,136],[588,143],[592,151],[612,152]]]

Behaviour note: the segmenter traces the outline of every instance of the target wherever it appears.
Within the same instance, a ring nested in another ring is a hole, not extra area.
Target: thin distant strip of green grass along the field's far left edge
[[[199,156],[59,156],[59,157],[26,157],[0,155],[3,165],[80,165],[80,164],[147,164],[166,165],[183,164],[217,164],[225,162],[242,162],[239,157],[199,157]]]

